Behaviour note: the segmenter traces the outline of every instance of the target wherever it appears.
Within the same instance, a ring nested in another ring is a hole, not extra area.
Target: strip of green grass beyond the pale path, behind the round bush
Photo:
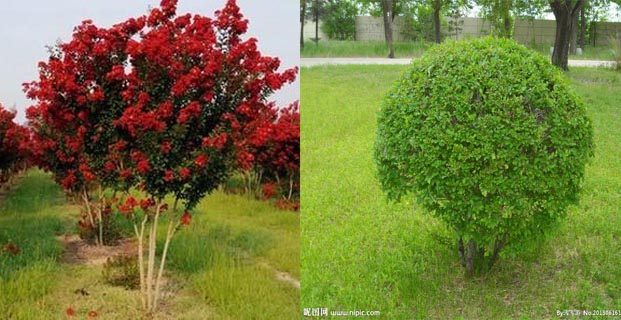
[[[433,43],[417,41],[396,41],[396,58],[420,57]],[[532,47],[535,51],[544,55],[550,55],[549,45],[537,45]],[[304,49],[300,50],[302,58],[386,58],[388,47],[384,41],[335,41],[324,40],[318,44],[314,42],[304,43]],[[609,46],[587,46],[582,55],[570,55],[569,59],[577,60],[613,60],[615,51]]]

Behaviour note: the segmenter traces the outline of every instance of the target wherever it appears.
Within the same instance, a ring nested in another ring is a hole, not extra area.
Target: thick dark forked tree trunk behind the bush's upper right
[[[552,12],[556,18],[556,37],[552,52],[552,64],[561,70],[568,70],[569,40],[573,21],[582,8],[583,0],[577,0],[574,6],[571,0],[555,0],[550,2]]]

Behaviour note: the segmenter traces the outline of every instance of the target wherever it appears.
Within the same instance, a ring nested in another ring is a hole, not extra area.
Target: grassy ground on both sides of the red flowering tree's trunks
[[[299,215],[221,192],[194,212],[171,243],[168,289],[155,319],[297,317]],[[79,319],[91,310],[98,319],[140,319],[137,290],[106,284],[101,265],[63,261],[57,236],[75,233],[78,214],[38,170],[0,199],[0,245],[21,248],[0,254],[1,319],[63,319],[69,307]]]

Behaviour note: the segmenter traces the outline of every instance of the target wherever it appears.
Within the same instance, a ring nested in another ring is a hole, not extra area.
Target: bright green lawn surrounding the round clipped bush
[[[593,119],[596,155],[580,205],[553,236],[466,279],[451,232],[375,177],[376,112],[405,66],[303,68],[301,307],[386,319],[540,319],[621,309],[621,75],[568,73]]]

